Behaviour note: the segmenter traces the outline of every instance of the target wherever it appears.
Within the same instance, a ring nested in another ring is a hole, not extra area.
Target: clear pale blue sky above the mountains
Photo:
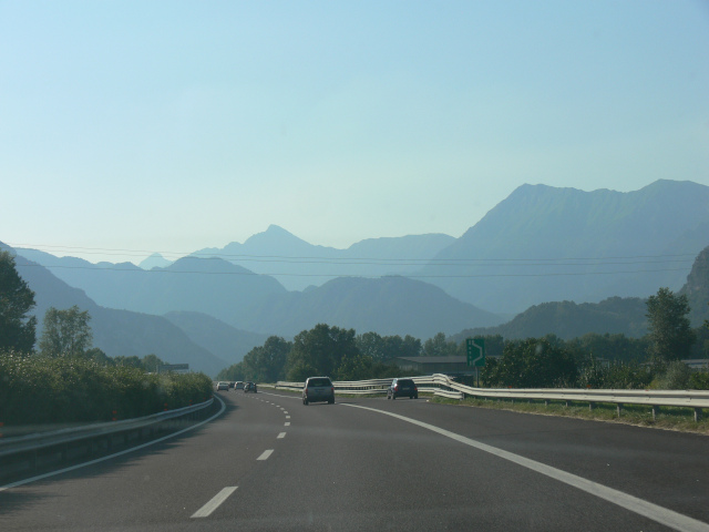
[[[0,241],[66,253],[709,185],[709,2],[0,0]]]

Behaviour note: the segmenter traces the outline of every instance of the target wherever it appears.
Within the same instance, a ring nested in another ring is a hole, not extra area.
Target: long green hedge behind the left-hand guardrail
[[[0,422],[6,427],[88,423],[148,416],[212,396],[203,374],[146,374],[82,358],[0,354]]]

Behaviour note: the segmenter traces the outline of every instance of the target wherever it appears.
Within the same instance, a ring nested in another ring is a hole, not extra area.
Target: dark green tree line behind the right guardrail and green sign
[[[487,387],[513,388],[709,389],[708,371],[691,371],[680,361],[707,356],[709,348],[709,324],[692,330],[688,314],[687,296],[660,288],[647,300],[650,332],[643,338],[595,332],[572,340],[555,335],[525,340],[485,336],[489,361],[482,380]],[[697,344],[705,352],[693,350]],[[465,340],[454,341],[443,332],[422,342],[412,336],[357,335],[353,329],[319,324],[292,341],[271,336],[217,378],[276,382],[327,375],[364,380],[401,376],[393,364],[398,357],[465,355]]]

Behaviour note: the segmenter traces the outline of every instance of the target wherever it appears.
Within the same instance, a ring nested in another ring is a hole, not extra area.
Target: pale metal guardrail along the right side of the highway
[[[574,388],[473,388],[461,385],[445,375],[435,374],[427,377],[412,377],[419,387],[419,392],[432,392],[452,399],[477,397],[481,399],[505,400],[538,400],[538,401],[572,401],[588,402],[589,408],[596,403],[613,403],[618,412],[624,405],[647,405],[653,409],[653,417],[657,416],[660,407],[685,407],[695,411],[695,420],[701,417],[701,411],[709,408],[709,391],[690,390],[595,390]],[[392,379],[372,379],[360,381],[332,382],[336,392],[351,395],[383,395]],[[304,382],[277,382],[276,388],[301,390]]]

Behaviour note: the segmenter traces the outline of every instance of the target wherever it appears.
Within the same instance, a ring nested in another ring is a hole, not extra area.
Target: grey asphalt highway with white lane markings
[[[709,439],[425,399],[217,393],[154,446],[0,488],[0,531],[709,531]]]

